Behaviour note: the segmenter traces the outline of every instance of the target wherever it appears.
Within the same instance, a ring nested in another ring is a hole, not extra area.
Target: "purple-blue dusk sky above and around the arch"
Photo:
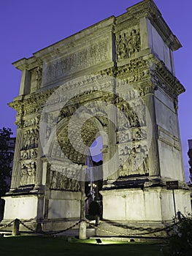
[[[15,110],[7,106],[18,96],[20,71],[12,62],[58,42],[111,15],[118,16],[138,0],[1,0],[0,1],[0,128],[15,135]],[[188,180],[188,139],[192,138],[191,0],[155,0],[166,23],[183,48],[174,53],[176,76],[185,86],[180,95],[179,121],[185,176]]]

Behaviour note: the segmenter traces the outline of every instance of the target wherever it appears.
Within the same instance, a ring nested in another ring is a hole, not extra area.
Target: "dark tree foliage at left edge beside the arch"
[[[10,140],[12,130],[3,127],[0,129],[0,197],[9,189],[7,180],[11,175],[13,155],[9,152],[7,142]]]

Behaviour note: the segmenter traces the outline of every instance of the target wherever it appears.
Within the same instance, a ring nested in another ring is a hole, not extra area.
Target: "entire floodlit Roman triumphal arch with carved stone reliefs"
[[[191,211],[185,185],[173,51],[181,47],[151,0],[14,66],[22,71],[12,184],[4,222],[61,230],[85,218],[85,182],[102,180],[99,236],[145,233]],[[103,163],[86,165],[102,138]],[[126,227],[126,228],[125,228]],[[143,227],[144,230],[141,230]],[[161,236],[157,233],[155,236]]]

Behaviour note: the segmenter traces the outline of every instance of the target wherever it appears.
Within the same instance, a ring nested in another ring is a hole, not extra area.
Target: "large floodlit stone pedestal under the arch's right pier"
[[[191,212],[188,190],[177,189],[174,194],[176,211]],[[145,229],[161,229],[173,223],[172,190],[165,187],[110,189],[101,195],[104,222],[99,225],[98,236],[163,236],[165,232],[150,233]]]

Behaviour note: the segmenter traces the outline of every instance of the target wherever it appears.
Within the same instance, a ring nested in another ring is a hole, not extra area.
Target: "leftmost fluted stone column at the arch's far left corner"
[[[23,129],[18,128],[16,133],[15,153],[12,166],[12,181],[10,190],[19,187],[20,182],[20,149],[23,141]]]

